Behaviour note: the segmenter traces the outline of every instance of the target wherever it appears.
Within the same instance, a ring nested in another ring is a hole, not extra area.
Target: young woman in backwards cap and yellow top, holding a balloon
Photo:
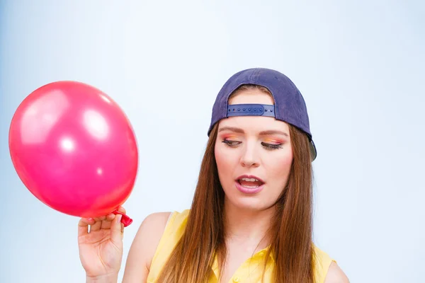
[[[234,74],[208,136],[191,209],[147,216],[123,282],[348,282],[312,243],[316,147],[293,82],[271,69]],[[120,215],[80,219],[79,253],[86,282],[116,283]]]

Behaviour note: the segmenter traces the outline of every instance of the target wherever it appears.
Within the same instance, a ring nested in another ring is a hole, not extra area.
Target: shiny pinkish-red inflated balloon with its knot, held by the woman
[[[118,214],[137,175],[128,117],[102,91],[57,81],[30,93],[9,129],[13,166],[41,202],[64,214]],[[125,226],[131,219],[123,216]]]

